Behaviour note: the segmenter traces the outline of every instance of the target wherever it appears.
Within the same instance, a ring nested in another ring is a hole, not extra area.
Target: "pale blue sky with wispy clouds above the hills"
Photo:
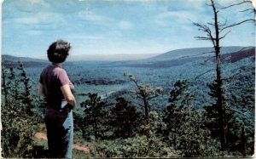
[[[46,57],[57,39],[72,43],[73,55],[161,54],[212,46],[193,22],[212,21],[207,0],[5,0],[2,54]],[[225,5],[232,1],[220,1]],[[237,2],[237,1],[233,1]],[[253,18],[248,6],[221,11],[221,20]],[[250,7],[250,6],[249,6]],[[254,45],[253,23],[232,28],[222,46]]]

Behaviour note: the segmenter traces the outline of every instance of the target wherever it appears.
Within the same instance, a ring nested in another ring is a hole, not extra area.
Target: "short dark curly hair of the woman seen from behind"
[[[64,62],[67,59],[70,48],[70,43],[64,40],[57,40],[50,44],[47,50],[49,61],[53,63]]]

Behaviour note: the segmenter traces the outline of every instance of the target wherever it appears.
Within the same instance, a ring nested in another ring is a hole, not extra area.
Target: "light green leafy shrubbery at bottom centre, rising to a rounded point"
[[[148,123],[143,124],[142,133],[134,138],[103,140],[96,145],[102,157],[177,157],[181,152],[167,147],[160,140],[158,131],[165,128],[158,114],[151,111]]]

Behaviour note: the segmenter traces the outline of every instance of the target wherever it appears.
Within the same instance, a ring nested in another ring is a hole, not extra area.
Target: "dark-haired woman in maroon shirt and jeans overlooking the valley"
[[[70,43],[57,40],[47,50],[51,65],[44,68],[38,82],[38,94],[44,95],[44,121],[50,158],[72,158],[74,86],[62,68],[71,49]]]

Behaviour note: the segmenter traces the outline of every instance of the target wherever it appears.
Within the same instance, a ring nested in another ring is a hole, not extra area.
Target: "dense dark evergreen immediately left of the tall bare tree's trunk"
[[[164,111],[164,140],[181,151],[181,156],[218,156],[218,142],[206,128],[205,112],[196,110],[191,101],[189,82],[178,80],[170,92],[169,105]]]

